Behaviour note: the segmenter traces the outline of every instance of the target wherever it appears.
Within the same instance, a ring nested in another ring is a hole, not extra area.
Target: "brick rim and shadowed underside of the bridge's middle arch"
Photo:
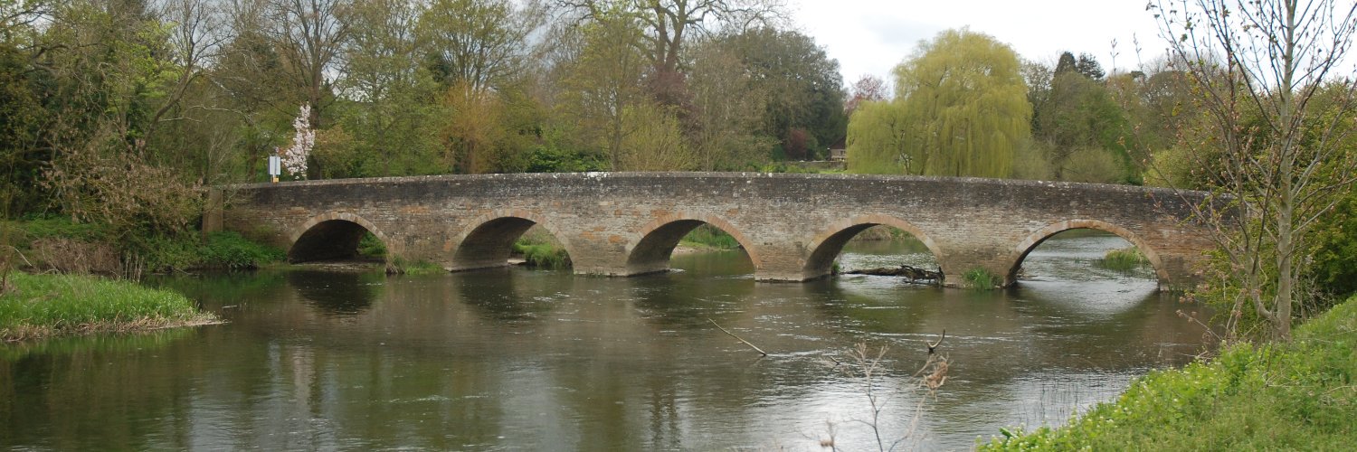
[[[763,267],[753,242],[740,228],[730,224],[730,221],[710,214],[677,212],[661,216],[641,228],[636,235],[639,239],[632,240],[626,248],[627,274],[635,276],[669,270],[669,258],[673,255],[674,247],[678,246],[678,242],[688,232],[692,232],[692,229],[696,229],[703,223],[721,228],[734,238],[740,243],[740,247],[745,248],[745,254],[749,255],[749,261],[753,262],[756,271]]]

